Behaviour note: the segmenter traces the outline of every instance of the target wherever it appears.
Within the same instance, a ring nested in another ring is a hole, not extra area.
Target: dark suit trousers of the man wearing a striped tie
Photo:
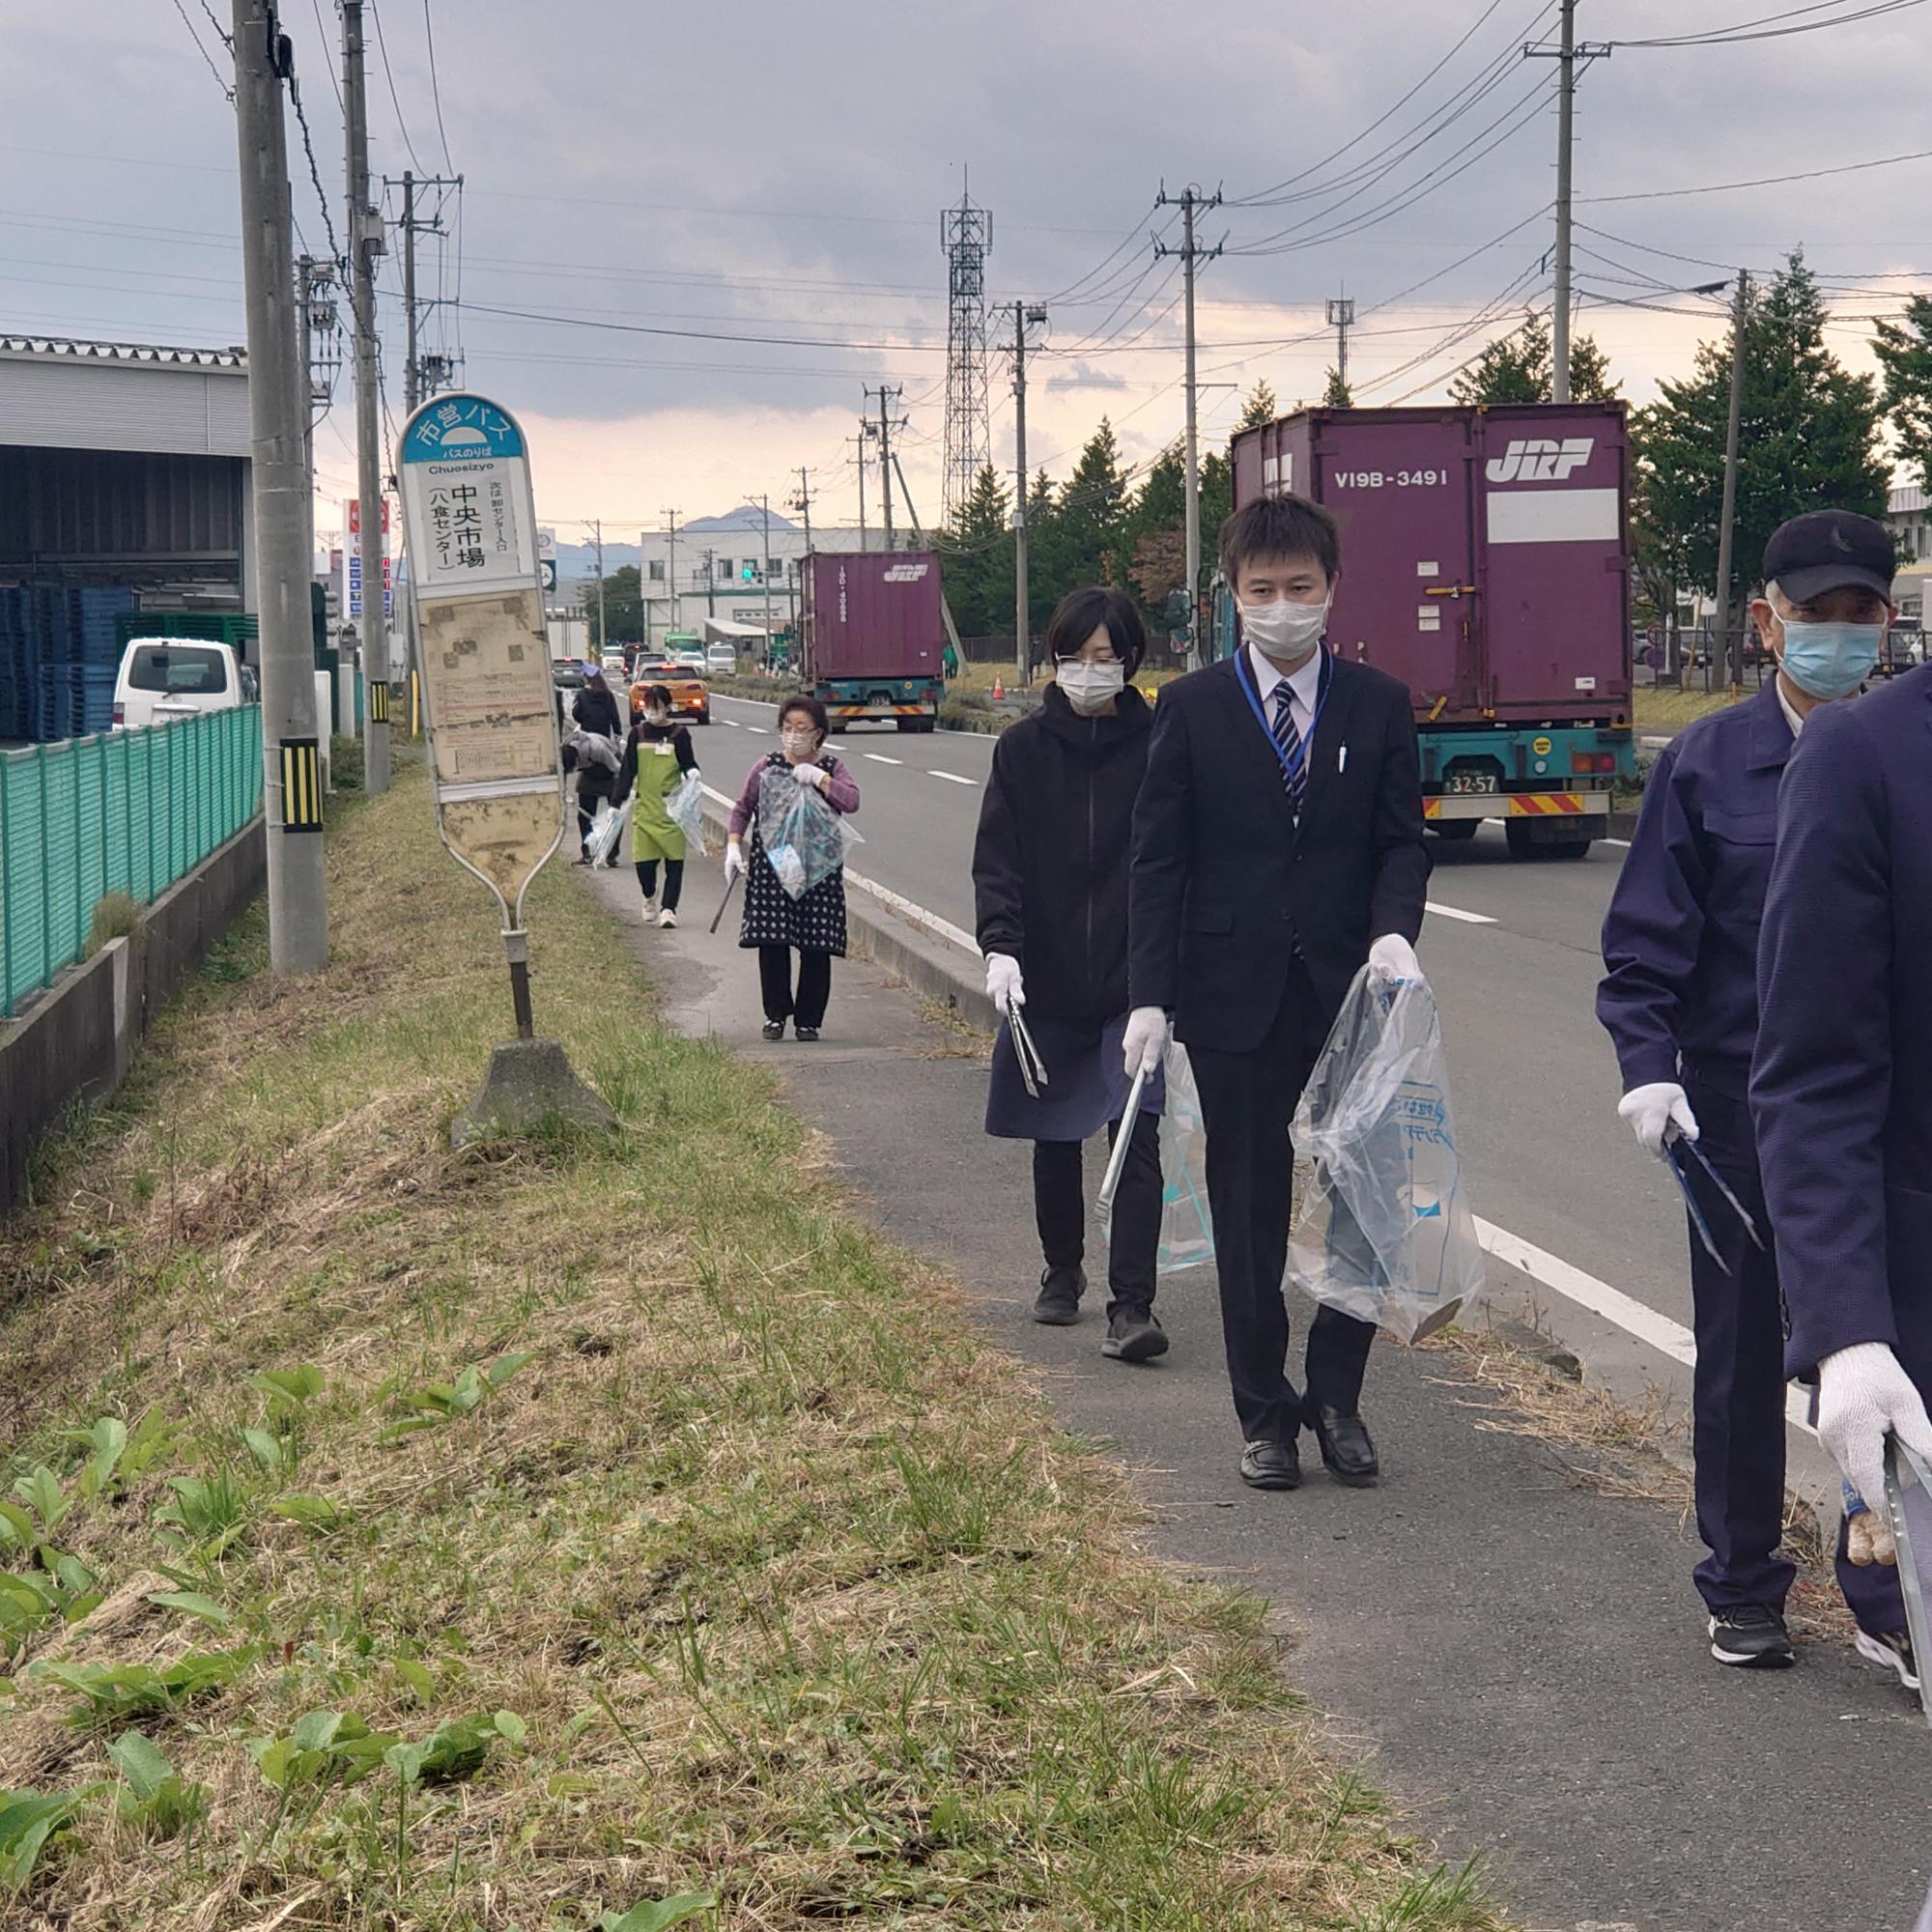
[[[1296,960],[1267,1037],[1252,1053],[1188,1047],[1208,1128],[1221,1339],[1235,1414],[1248,1441],[1293,1441],[1302,1399],[1289,1381],[1289,1258],[1294,1144],[1289,1128],[1327,1039],[1327,1016]],[[1372,1321],[1323,1304],[1308,1329],[1308,1403],[1354,1414],[1362,1401]]]

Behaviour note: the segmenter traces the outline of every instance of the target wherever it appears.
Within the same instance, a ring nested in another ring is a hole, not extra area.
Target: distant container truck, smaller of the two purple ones
[[[933,730],[947,634],[931,551],[825,551],[800,568],[804,690],[831,728]]]

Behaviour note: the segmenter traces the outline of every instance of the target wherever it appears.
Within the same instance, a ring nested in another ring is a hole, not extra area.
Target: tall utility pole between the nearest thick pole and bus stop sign
[[[375,257],[383,216],[369,205],[369,100],[363,0],[342,0],[342,126],[348,147],[350,265],[355,301],[355,498],[361,533],[363,790],[388,790],[388,612],[383,609],[383,417],[375,369]],[[344,545],[348,535],[344,533]],[[371,568],[373,564],[373,568]]]

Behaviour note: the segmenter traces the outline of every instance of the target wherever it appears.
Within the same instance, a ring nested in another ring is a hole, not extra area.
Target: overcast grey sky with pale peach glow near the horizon
[[[230,0],[211,4],[226,23]],[[1582,0],[1578,37],[1687,35],[1795,4]],[[1872,4],[1828,0],[1801,19]],[[282,12],[340,232],[336,8],[284,0]],[[1180,429],[1179,263],[1150,245],[1150,230],[1179,238],[1177,211],[1153,205],[1163,182],[1227,197],[1202,218],[1204,243],[1227,242],[1200,284],[1202,379],[1229,384],[1202,398],[1213,440],[1258,377],[1283,404],[1320,390],[1333,359],[1323,301],[1343,290],[1358,307],[1362,402],[1439,398],[1505,327],[1484,315],[1548,299],[1555,64],[1520,48],[1553,31],[1553,4],[386,0],[371,12],[388,52],[369,83],[377,172],[466,178],[460,249],[454,232],[440,259],[425,240],[421,269],[425,292],[454,296],[460,255],[462,309],[427,327],[460,340],[469,386],[522,413],[539,514],[566,539],[593,516],[609,537],[657,527],[665,508],[703,516],[761,493],[777,508],[800,466],[815,522],[856,520],[844,439],[881,379],[904,384],[906,477],[935,520],[939,209],[966,168],[993,218],[989,303],[1051,309],[1047,354],[1030,365],[1028,444],[1057,473],[1101,413],[1136,464]],[[228,56],[203,0],[4,0],[0,14],[0,332],[240,342],[234,122],[209,68]],[[1870,367],[1855,317],[1918,286],[1876,278],[1932,267],[1932,160],[1662,191],[1928,147],[1928,93],[1922,0],[1745,44],[1617,46],[1584,73],[1577,214],[1617,238],[1578,232],[1594,251],[1577,261],[1584,327],[1633,400],[1687,369],[1714,325],[1600,298],[1712,311],[1658,284],[1766,269],[1801,243],[1845,278],[1833,342]],[[296,216],[327,253],[294,128],[290,139]],[[1275,205],[1258,205],[1271,189]],[[1629,195],[1650,199],[1600,199]],[[383,282],[400,286],[394,259]],[[694,334],[639,332],[653,328]],[[717,334],[792,340],[703,340]],[[400,413],[394,298],[384,342]],[[1010,468],[1001,357],[989,390],[991,454]],[[352,423],[344,381],[317,442],[328,498],[350,489]],[[877,518],[877,473],[869,495]]]

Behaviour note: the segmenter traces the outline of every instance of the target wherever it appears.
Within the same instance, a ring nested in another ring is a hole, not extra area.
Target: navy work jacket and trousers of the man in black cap
[[[1785,1515],[1785,1323],[1750,1124],[1758,1034],[1758,925],[1777,842],[1777,786],[1797,721],[1776,680],[1748,703],[1698,719],[1671,740],[1644,786],[1623,877],[1604,918],[1596,1012],[1625,1088],[1683,1086],[1698,1148],[1743,1202],[1735,1209],[1687,1163],[1690,1190],[1729,1275],[1690,1229],[1696,1331],[1692,1451],[1696,1522],[1710,1555],[1696,1586],[1712,1615],[1781,1607],[1795,1575],[1777,1553]],[[1669,1157],[1669,1155],[1665,1155]],[[1866,1631],[1903,1625],[1891,1571],[1839,1582]]]

